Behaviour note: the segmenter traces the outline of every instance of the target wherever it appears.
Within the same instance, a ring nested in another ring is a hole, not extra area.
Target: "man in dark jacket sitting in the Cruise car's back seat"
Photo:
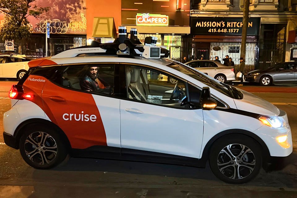
[[[112,93],[110,85],[98,78],[98,67],[85,66],[81,71],[80,88],[84,91],[109,95]]]

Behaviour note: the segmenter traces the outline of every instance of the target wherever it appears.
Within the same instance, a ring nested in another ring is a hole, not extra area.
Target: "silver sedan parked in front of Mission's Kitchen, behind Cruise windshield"
[[[234,67],[229,67],[216,61],[193,60],[186,62],[185,64],[209,75],[210,77],[213,77],[222,83],[235,80]]]

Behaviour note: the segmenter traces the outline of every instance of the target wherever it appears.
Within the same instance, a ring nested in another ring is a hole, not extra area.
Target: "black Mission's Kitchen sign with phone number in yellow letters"
[[[193,35],[242,35],[241,17],[192,17]],[[249,18],[247,35],[258,35],[260,18]]]

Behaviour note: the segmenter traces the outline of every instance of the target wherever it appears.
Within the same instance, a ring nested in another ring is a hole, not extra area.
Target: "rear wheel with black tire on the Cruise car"
[[[68,154],[67,143],[61,133],[54,130],[53,127],[30,124],[22,132],[19,150],[28,165],[37,169],[49,169],[57,166],[66,158]],[[41,140],[42,134],[45,137],[43,138],[44,141]]]

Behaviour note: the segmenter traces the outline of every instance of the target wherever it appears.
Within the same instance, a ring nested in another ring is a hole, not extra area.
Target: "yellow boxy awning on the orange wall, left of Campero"
[[[116,29],[113,17],[94,17],[93,36],[94,38],[116,38]]]

